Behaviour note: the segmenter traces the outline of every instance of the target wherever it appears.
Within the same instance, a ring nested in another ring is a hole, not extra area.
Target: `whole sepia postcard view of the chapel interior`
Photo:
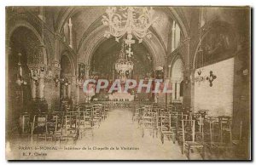
[[[47,159],[250,159],[250,9],[118,8],[6,8],[6,145],[14,157],[22,158],[20,144],[43,144],[102,150],[48,151]],[[106,33],[117,24],[106,23],[108,12],[155,21],[146,35],[124,30],[117,39]],[[149,93],[84,93],[87,79],[119,77],[161,79],[171,93],[153,93],[154,85]],[[111,155],[107,146],[126,149]]]

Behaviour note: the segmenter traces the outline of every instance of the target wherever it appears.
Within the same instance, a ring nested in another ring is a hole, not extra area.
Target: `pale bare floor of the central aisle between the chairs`
[[[146,132],[142,137],[142,129],[138,127],[137,122],[132,122],[131,118],[131,110],[110,111],[109,117],[102,122],[100,128],[94,130],[93,139],[79,139],[75,145],[90,147],[91,150],[65,151],[67,159],[186,159],[177,144],[165,140],[165,144],[162,145],[160,135],[153,138]],[[114,150],[110,150],[111,147]],[[133,150],[122,150],[122,147],[131,147]],[[100,151],[99,148],[108,150]],[[61,152],[55,152],[51,156],[58,157],[56,154],[64,154]]]

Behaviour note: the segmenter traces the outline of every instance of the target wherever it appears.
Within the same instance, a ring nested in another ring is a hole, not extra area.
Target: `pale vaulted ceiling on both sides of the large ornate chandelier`
[[[107,7],[78,7],[75,9],[62,9],[59,11],[58,16],[55,15],[57,20],[56,24],[61,24],[61,19],[66,20],[63,22],[63,26],[68,25],[68,17],[73,20],[73,31],[75,35],[76,48],[79,49],[83,42],[84,36],[86,37],[91,31],[94,31],[97,27],[102,26],[102,15],[105,14]],[[55,9],[54,9],[55,10]],[[160,20],[150,28],[150,31],[159,38],[164,48],[167,49],[168,34],[170,33],[170,25],[173,20],[173,16],[170,15],[166,8],[154,7],[154,17],[159,17]],[[69,14],[68,14],[69,13]],[[62,20],[63,21],[63,20]],[[60,25],[59,25],[60,26]]]

